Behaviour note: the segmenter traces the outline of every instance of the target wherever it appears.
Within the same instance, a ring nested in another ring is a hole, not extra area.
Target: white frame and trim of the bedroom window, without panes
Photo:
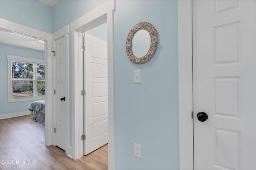
[[[41,60],[41,59],[19,57],[19,56],[14,56],[14,55],[7,55],[7,59],[8,59],[8,102],[45,99],[45,95],[44,96],[34,96],[34,97],[17,97],[17,98],[12,97],[12,61],[23,62],[23,63],[42,64],[42,65],[45,65],[45,61]],[[36,66],[34,66],[34,67],[36,67]],[[35,78],[36,71],[34,71],[33,74],[34,74],[33,78]],[[33,82],[37,82],[37,81],[38,81],[37,77],[36,77],[36,79],[33,79]],[[35,83],[33,83],[33,87],[34,87],[33,93],[37,92],[37,88],[36,88],[36,91],[35,91]]]

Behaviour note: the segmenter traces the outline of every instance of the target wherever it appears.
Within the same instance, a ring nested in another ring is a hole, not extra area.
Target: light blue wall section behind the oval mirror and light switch
[[[178,170],[178,2],[116,0],[114,101],[116,170]],[[153,24],[158,47],[147,63],[132,63],[126,37],[140,21]],[[133,71],[141,70],[141,84]],[[142,145],[142,158],[134,156]]]

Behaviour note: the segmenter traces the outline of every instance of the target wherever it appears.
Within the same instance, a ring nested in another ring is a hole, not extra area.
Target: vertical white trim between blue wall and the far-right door
[[[180,170],[192,170],[193,160],[193,77],[192,0],[178,1],[179,134]]]

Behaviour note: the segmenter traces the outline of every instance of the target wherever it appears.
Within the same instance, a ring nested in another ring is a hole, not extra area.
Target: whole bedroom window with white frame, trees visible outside
[[[7,55],[8,101],[44,99],[44,60]]]

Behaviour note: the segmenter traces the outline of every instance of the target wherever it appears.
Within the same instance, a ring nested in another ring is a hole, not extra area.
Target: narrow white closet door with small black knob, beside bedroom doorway
[[[67,116],[68,116],[68,54],[67,40],[65,37],[54,40],[54,84],[55,84],[55,99],[54,99],[54,121],[55,121],[55,145],[66,150],[67,146]]]

